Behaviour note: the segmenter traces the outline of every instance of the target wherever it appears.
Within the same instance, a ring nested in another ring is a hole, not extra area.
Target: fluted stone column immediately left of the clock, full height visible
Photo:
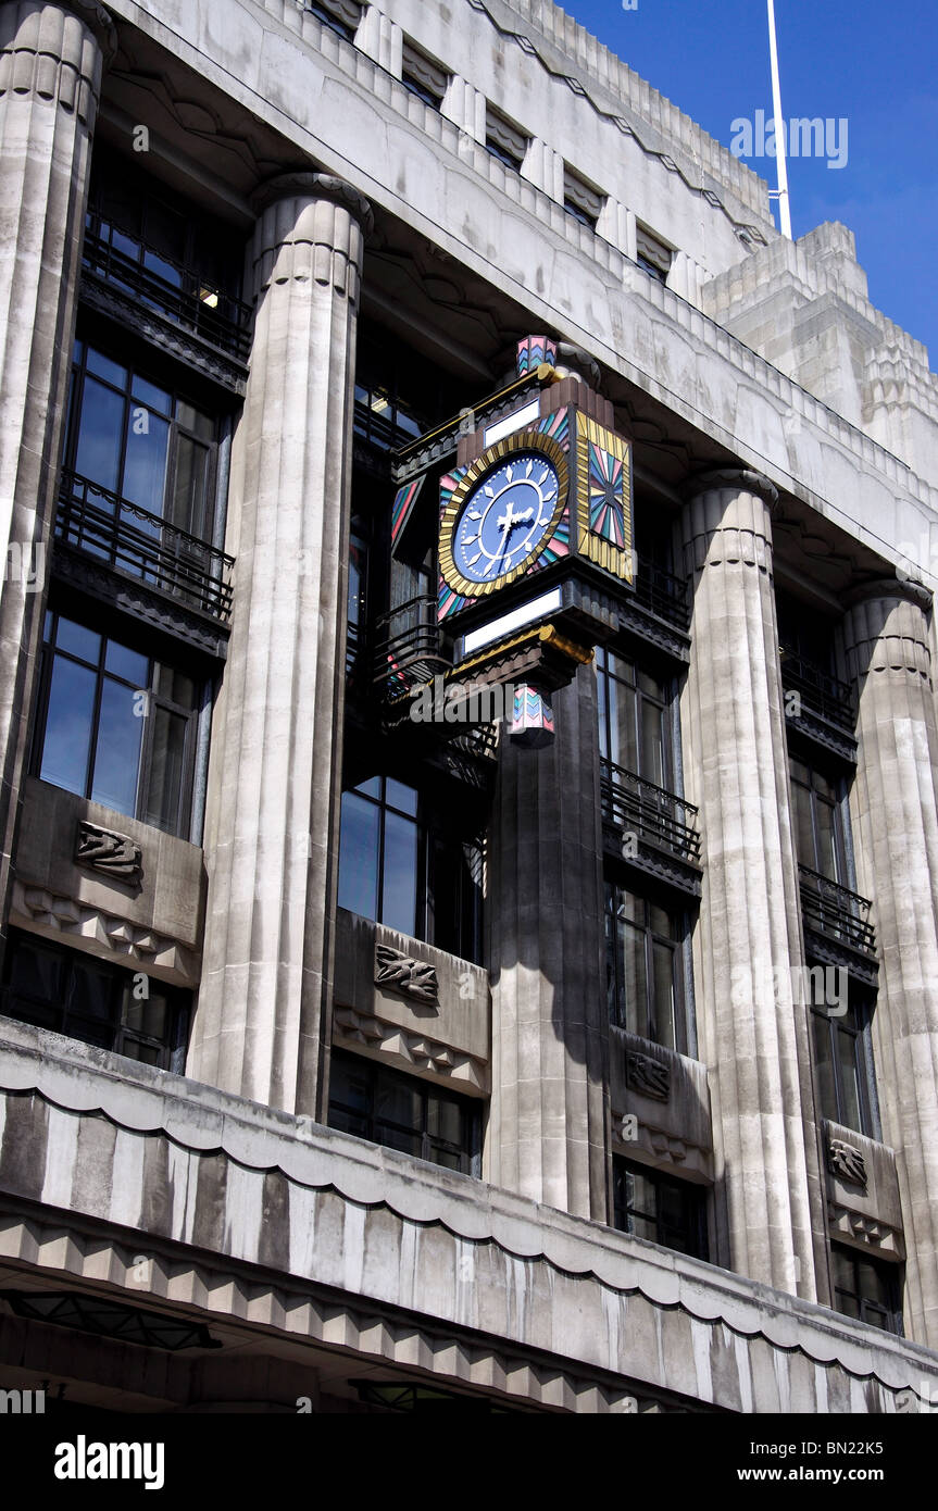
[[[275,180],[260,205],[189,1073],[317,1115],[338,864],[355,322],[370,210],[322,174]]]

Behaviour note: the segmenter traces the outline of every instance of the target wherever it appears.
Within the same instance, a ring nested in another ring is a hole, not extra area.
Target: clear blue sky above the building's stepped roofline
[[[630,68],[730,147],[731,122],[772,113],[766,0],[566,0]],[[856,236],[872,302],[938,369],[938,6],[935,0],[775,0],[782,115],[847,119],[847,162],[788,163],[796,237],[822,221]],[[748,160],[775,187],[775,159]]]

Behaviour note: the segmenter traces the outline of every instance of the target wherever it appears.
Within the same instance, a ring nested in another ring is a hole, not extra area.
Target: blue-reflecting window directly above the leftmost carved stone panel
[[[199,701],[201,688],[187,672],[50,612],[35,772],[186,836]]]

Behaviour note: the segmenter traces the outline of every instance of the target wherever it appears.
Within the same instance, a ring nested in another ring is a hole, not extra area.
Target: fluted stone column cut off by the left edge
[[[6,925],[57,462],[76,329],[91,138],[116,45],[92,0],[0,5],[0,920]]]

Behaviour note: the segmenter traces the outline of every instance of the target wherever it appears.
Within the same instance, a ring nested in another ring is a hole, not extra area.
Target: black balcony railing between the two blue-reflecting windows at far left
[[[233,556],[77,473],[62,473],[56,539],[216,620],[231,613]]]

